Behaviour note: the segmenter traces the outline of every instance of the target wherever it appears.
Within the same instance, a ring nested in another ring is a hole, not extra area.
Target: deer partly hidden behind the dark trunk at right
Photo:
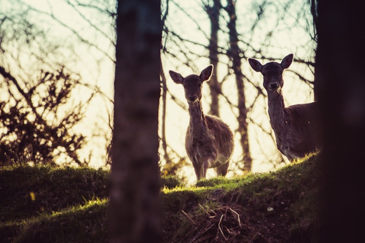
[[[305,157],[306,154],[321,148],[317,102],[289,107],[284,105],[282,74],[293,62],[293,57],[293,54],[289,54],[281,63],[269,62],[265,65],[258,60],[248,59],[252,69],[263,75],[263,86],[268,95],[270,125],[274,130],[276,146],[290,161]]]

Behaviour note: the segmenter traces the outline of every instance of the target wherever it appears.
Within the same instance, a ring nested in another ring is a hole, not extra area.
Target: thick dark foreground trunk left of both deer
[[[160,44],[160,1],[119,0],[110,242],[161,242]]]

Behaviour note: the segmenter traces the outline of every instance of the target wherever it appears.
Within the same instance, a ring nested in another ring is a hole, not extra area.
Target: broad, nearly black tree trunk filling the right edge
[[[319,242],[359,242],[365,218],[365,36],[358,1],[318,1],[316,73],[324,146]]]

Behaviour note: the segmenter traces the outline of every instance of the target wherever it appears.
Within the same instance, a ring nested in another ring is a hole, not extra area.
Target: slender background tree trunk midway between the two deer
[[[252,158],[248,144],[248,128],[247,128],[247,109],[246,109],[246,97],[244,94],[244,83],[243,74],[241,70],[241,57],[240,49],[238,47],[238,33],[236,29],[236,8],[235,2],[233,0],[227,1],[227,7],[225,10],[230,16],[230,21],[228,22],[229,29],[229,39],[230,39],[230,49],[228,55],[232,60],[232,69],[236,77],[236,86],[238,92],[238,132],[241,136],[240,143],[242,146],[242,157],[243,157],[243,171],[249,172],[252,168]]]

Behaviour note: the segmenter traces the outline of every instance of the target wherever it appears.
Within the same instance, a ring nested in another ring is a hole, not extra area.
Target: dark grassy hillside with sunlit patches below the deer
[[[163,178],[164,242],[315,242],[314,165],[315,156],[194,187]],[[107,176],[90,168],[0,169],[0,242],[107,242]]]

